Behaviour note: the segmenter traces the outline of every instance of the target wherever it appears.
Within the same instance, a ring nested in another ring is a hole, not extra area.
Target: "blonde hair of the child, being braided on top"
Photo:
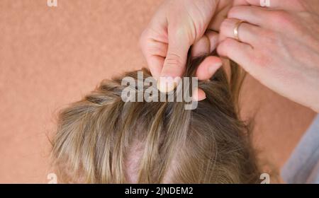
[[[205,57],[187,63],[194,76]],[[150,77],[147,69],[144,77]],[[124,76],[137,79],[137,72]],[[238,117],[240,70],[219,69],[198,87],[195,110],[180,102],[123,102],[121,79],[62,110],[52,141],[59,182],[254,183],[259,170],[247,125]],[[145,88],[146,89],[146,88]],[[134,156],[134,157],[132,157]],[[133,176],[132,176],[133,175]]]

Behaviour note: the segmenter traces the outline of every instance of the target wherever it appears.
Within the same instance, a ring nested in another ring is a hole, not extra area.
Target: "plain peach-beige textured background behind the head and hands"
[[[0,182],[47,182],[55,115],[103,78],[138,69],[138,37],[158,0],[0,1]],[[247,78],[261,156],[280,168],[315,113]]]

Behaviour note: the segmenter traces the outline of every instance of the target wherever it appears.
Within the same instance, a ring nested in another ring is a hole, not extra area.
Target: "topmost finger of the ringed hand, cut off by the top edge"
[[[261,6],[290,11],[302,9],[301,1],[299,0],[234,0],[234,6]]]

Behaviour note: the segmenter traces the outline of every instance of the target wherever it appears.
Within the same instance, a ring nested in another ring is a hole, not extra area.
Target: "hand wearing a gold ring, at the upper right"
[[[277,93],[319,112],[319,1],[239,0],[220,27],[218,54]],[[252,6],[250,6],[252,5]],[[240,41],[235,40],[238,21]],[[271,102],[271,101],[269,101]]]

